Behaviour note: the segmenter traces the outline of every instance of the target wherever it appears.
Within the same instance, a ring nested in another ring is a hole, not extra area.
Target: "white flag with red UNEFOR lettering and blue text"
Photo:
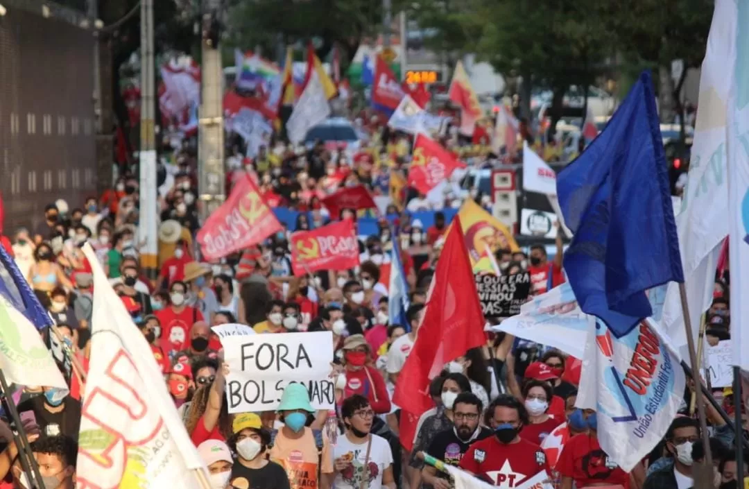
[[[616,338],[600,320],[583,356],[576,407],[596,411],[601,449],[625,472],[663,439],[684,397],[681,359],[651,319]]]

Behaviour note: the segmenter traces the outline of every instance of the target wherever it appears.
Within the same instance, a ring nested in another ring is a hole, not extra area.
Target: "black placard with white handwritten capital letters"
[[[485,318],[509,318],[520,314],[530,294],[530,273],[473,276]]]

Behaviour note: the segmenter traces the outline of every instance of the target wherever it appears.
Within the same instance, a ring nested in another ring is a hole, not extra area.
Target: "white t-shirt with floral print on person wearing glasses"
[[[369,449],[368,481],[364,486],[369,489],[382,488],[382,474],[387,467],[392,466],[392,452],[383,437],[372,436],[372,448]],[[345,435],[338,438],[336,448],[333,449],[333,459],[344,457],[351,461],[351,465],[336,473],[334,486],[336,489],[360,489],[364,475],[364,462],[367,456],[367,443],[354,445]]]

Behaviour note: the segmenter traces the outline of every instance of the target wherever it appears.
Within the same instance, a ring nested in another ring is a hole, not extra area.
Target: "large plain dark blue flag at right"
[[[640,75],[603,132],[560,174],[574,232],[564,268],[583,312],[616,337],[652,315],[646,289],[684,282],[655,94]]]

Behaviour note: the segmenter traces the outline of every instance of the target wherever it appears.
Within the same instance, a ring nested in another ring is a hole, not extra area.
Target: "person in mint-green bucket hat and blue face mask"
[[[333,458],[327,438],[307,428],[315,409],[309,392],[300,383],[290,383],[283,391],[277,412],[283,427],[276,433],[270,460],[285,468],[291,489],[330,489],[333,482]]]

